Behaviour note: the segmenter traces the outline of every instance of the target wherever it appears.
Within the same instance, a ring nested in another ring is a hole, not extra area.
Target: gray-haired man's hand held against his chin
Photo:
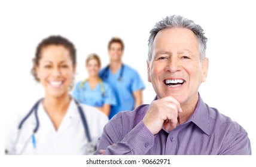
[[[178,113],[181,113],[181,104],[172,96],[153,101],[142,122],[155,135],[161,128],[172,130],[178,123]]]

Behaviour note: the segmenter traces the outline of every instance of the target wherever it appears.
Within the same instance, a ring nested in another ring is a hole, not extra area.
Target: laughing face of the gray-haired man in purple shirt
[[[148,63],[148,81],[158,98],[173,96],[181,106],[198,100],[198,89],[205,82],[208,59],[200,61],[196,35],[184,28],[169,28],[157,33]]]

